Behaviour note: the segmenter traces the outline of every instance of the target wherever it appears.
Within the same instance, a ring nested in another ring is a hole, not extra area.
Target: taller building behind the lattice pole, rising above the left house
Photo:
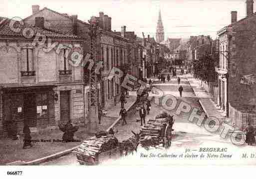
[[[77,15],[68,15],[67,13],[59,13],[47,7],[39,9],[38,5],[32,6],[32,15],[24,19],[25,23],[33,24],[35,17],[44,17],[44,25],[47,28],[60,32],[68,32],[76,34],[83,38],[83,54],[86,56],[90,53],[90,36],[89,23],[79,20]],[[108,109],[115,101],[118,101],[121,87],[114,84],[113,80],[107,80],[107,76],[112,67],[119,67],[128,61],[127,39],[121,35],[115,34],[111,29],[111,20],[104,12],[99,12],[96,17],[99,21],[100,31],[97,36],[97,52],[100,60],[103,61],[103,69],[101,70],[101,81],[98,84],[99,103],[101,108]],[[85,118],[88,116],[89,110],[89,63],[84,66],[84,112]]]

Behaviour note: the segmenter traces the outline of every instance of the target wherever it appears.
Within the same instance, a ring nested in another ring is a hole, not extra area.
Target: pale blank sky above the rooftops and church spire
[[[238,11],[238,20],[246,16],[246,0],[0,0],[0,16],[21,18],[32,13],[32,5],[48,7],[60,13],[77,14],[88,21],[99,11],[112,17],[112,30],[126,25],[142,37],[155,37],[161,9],[165,39],[211,35],[231,23],[231,11]],[[256,2],[255,2],[256,5]],[[254,8],[256,9],[256,7]]]

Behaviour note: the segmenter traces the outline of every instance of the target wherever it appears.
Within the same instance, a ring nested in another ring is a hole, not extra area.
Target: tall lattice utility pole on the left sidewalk
[[[96,17],[91,17],[90,23],[90,37],[91,37],[91,60],[93,61],[93,67],[89,71],[89,121],[88,127],[90,133],[98,131],[98,75],[96,71],[96,64],[99,62],[99,55],[97,52],[97,37],[99,35],[99,22]]]

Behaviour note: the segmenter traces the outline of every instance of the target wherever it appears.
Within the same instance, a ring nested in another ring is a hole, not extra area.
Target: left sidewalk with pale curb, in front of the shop
[[[126,98],[127,103],[124,107],[129,110],[136,102],[135,96],[130,96]],[[99,125],[99,130],[106,131],[113,124],[116,124],[120,117],[120,103],[113,106],[108,110],[106,116],[101,119],[101,125]],[[30,165],[40,164],[41,162],[46,162],[47,160],[52,160],[62,155],[70,153],[75,147],[77,147],[80,142],[89,136],[94,134],[89,134],[88,130],[83,126],[79,127],[79,130],[75,133],[74,139],[77,142],[62,143],[63,132],[60,130],[44,131],[39,133],[31,133],[31,138],[34,141],[39,140],[40,142],[32,143],[33,147],[27,147],[27,149],[22,149],[23,137],[20,140],[4,139],[0,140],[0,165],[5,165],[8,163],[13,163],[10,165]],[[53,141],[55,140],[55,141]],[[56,142],[59,140],[58,142]]]

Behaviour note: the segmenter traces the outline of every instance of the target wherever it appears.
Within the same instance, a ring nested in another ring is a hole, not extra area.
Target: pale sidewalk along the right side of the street
[[[217,108],[215,103],[212,101],[213,96],[209,95],[201,86],[200,80],[195,79],[191,74],[183,75],[186,77],[194,90],[195,94],[199,98],[199,103],[201,104],[203,110],[207,116],[214,116],[218,119],[226,119],[224,114],[222,114]]]

